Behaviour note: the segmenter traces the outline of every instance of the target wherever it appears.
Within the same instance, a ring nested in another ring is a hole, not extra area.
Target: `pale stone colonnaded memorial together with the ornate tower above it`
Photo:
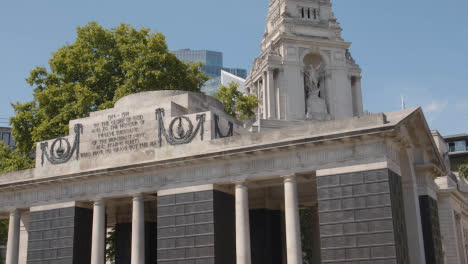
[[[6,263],[468,263],[444,139],[420,108],[364,114],[349,46],[329,0],[272,0],[251,127],[183,91],[72,120],[0,175]]]

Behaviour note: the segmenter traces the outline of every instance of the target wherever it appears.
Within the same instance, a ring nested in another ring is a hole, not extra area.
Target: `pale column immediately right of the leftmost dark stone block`
[[[104,264],[106,261],[106,205],[98,199],[93,205],[93,234],[91,242],[91,264]]]

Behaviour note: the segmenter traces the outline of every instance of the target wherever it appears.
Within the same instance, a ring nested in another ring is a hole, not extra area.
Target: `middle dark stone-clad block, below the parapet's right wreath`
[[[158,197],[158,263],[234,264],[234,197],[216,190]]]

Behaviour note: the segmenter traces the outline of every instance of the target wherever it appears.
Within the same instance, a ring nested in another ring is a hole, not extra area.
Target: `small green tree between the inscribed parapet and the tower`
[[[253,94],[244,95],[238,87],[238,84],[234,82],[229,83],[228,86],[221,85],[214,97],[223,103],[226,114],[240,120],[253,118],[259,100]]]

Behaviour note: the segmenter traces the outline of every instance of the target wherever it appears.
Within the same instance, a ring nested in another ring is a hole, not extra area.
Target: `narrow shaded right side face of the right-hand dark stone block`
[[[389,170],[388,176],[397,263],[406,264],[409,263],[409,252],[401,177],[391,170]]]

